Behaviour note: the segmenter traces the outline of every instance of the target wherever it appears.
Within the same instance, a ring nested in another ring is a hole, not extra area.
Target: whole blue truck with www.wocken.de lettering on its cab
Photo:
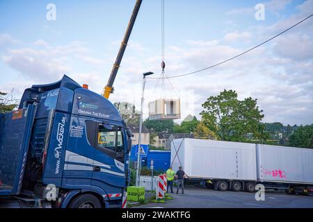
[[[122,207],[131,132],[115,106],[67,76],[0,114],[0,205]]]

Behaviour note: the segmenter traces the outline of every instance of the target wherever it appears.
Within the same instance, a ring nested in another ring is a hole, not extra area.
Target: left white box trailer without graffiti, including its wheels
[[[255,144],[209,139],[174,139],[171,164],[182,166],[191,179],[212,182],[216,189],[255,190],[257,163]]]

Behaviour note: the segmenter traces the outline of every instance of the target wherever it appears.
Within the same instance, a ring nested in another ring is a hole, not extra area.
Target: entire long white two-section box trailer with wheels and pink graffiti
[[[255,191],[256,185],[313,194],[313,149],[211,139],[174,139],[171,164],[191,182],[220,191]]]

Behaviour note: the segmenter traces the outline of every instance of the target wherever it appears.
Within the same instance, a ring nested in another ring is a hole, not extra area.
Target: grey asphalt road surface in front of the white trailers
[[[176,188],[176,187],[175,187]],[[155,194],[154,194],[155,195]],[[185,188],[184,194],[171,194],[168,203],[150,203],[144,207],[166,208],[313,208],[313,196],[266,191],[265,200],[255,200],[255,193]]]

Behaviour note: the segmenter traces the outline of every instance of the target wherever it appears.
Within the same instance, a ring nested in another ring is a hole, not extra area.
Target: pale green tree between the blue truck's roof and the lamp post
[[[141,113],[136,110],[135,105],[127,102],[116,102],[114,105],[127,124],[139,125]]]

